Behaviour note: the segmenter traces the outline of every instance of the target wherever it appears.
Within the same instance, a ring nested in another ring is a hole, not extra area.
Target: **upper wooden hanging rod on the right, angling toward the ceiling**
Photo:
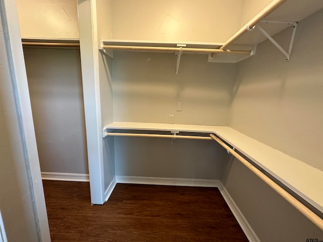
[[[224,45],[220,47],[220,49],[225,49],[230,44],[232,44],[235,40],[237,40],[241,35],[243,35],[245,32],[253,29],[256,23],[258,23],[260,20],[267,17],[269,14],[271,14],[275,9],[277,9],[286,1],[287,0],[275,0],[271,2],[263,10],[261,10],[255,17],[253,17],[247,24],[245,24],[241,29],[239,29],[237,33],[235,33],[230,39],[228,39],[228,41],[225,42]],[[212,52],[211,57],[213,57],[214,54],[216,53],[217,52]]]

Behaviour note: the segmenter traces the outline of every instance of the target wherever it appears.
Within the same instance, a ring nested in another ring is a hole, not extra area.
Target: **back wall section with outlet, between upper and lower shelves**
[[[115,51],[115,121],[168,123],[175,114],[176,124],[227,125],[235,65],[206,61],[207,55],[185,54],[176,76],[175,54]]]

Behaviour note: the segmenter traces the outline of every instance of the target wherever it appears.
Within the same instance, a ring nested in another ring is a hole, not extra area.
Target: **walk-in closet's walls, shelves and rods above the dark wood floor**
[[[323,241],[323,1],[16,1],[43,179],[218,188],[249,241]]]

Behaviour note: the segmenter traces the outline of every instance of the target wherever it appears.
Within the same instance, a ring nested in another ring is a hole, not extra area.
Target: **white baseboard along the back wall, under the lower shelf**
[[[168,178],[149,176],[122,176],[117,175],[117,183],[164,185],[164,186],[187,186],[187,187],[214,187],[219,186],[219,180]]]

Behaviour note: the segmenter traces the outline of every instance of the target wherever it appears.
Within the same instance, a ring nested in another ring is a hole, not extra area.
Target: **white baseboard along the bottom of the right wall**
[[[224,198],[224,200],[227,202],[231,212],[237,219],[238,223],[240,224],[240,227],[242,228],[243,232],[247,236],[250,242],[260,242],[260,239],[258,238],[257,234],[255,231],[252,229],[250,224],[248,223],[247,219],[245,216],[243,216],[242,212],[238,208],[237,204],[234,202],[233,198],[230,196],[226,188],[223,186],[221,181],[219,181],[219,190]]]

